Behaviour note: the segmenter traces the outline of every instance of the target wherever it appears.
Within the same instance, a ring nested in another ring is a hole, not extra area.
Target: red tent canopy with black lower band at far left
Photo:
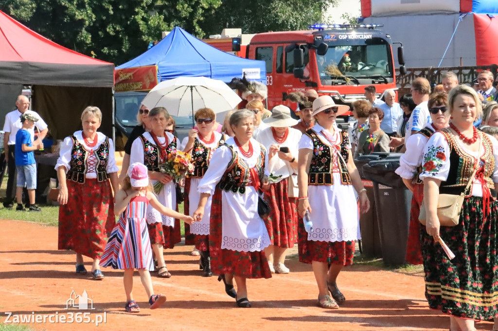
[[[0,50],[2,83],[114,86],[114,64],[62,47],[2,11]]]

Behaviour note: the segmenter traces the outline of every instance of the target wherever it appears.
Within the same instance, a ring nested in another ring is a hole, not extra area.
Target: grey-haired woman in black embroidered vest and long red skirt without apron
[[[59,179],[59,249],[76,252],[77,274],[87,273],[83,255],[92,258],[95,280],[104,279],[99,262],[116,223],[111,185],[114,192],[119,188],[114,144],[97,132],[101,122],[100,109],[86,107],[81,114],[83,131],[64,139],[55,165]]]

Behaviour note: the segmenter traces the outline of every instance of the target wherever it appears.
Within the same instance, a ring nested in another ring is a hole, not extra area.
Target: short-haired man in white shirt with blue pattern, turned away
[[[413,102],[417,105],[411,113],[410,119],[406,124],[405,140],[425,128],[428,123],[431,123],[431,114],[427,108],[427,101],[429,101],[429,94],[431,92],[431,85],[428,80],[423,77],[416,78],[411,83],[410,88]]]

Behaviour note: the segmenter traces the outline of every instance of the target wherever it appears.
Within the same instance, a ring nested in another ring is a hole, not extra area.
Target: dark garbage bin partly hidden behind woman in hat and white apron
[[[354,160],[360,178],[362,178],[362,183],[367,190],[367,196],[370,200],[370,209],[365,214],[360,214],[360,231],[362,234],[361,240],[361,252],[365,257],[382,257],[382,250],[380,247],[380,236],[377,222],[377,213],[375,206],[375,198],[373,195],[373,182],[365,178],[363,174],[363,165],[368,164],[371,161],[378,161],[387,156],[385,155],[360,155],[356,160]]]

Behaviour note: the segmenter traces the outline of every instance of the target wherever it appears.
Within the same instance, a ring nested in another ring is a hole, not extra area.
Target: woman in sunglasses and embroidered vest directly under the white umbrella
[[[193,215],[199,205],[200,193],[197,191],[199,182],[209,167],[213,152],[225,143],[226,136],[214,131],[216,120],[212,109],[201,108],[194,114],[197,130],[192,129],[188,137],[182,142],[185,153],[190,153],[194,160],[194,173],[185,179],[185,214]],[[206,213],[200,222],[190,226],[190,232],[195,236],[195,247],[201,252],[200,267],[203,269],[204,277],[213,275],[211,271],[211,258],[209,255],[209,220],[211,216],[211,197],[206,202]]]

